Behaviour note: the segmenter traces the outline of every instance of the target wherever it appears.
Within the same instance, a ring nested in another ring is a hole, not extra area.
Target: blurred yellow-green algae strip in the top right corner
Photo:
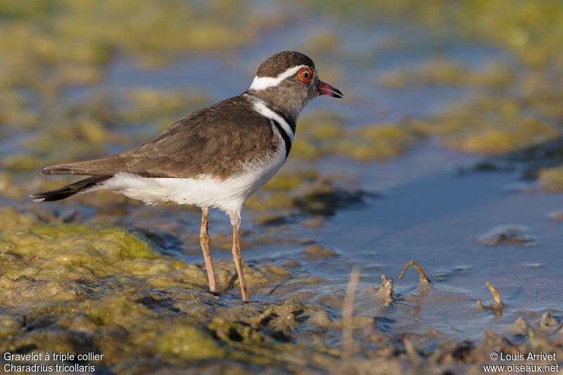
[[[451,3],[447,0],[419,1],[322,1],[304,2],[315,11],[322,11],[339,20],[355,22],[386,21],[414,25],[429,30],[431,37],[448,41],[465,39],[500,46],[514,53],[526,65],[548,65],[561,61],[556,46],[563,41],[558,15],[563,5],[557,1],[469,0]],[[324,4],[326,5],[326,4]]]

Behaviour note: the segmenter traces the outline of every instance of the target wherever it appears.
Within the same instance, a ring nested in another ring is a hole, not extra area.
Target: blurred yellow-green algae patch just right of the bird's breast
[[[334,172],[320,175],[310,164],[315,160],[329,155],[359,163],[387,160],[419,141],[419,132],[410,124],[369,124],[349,130],[343,121],[329,111],[317,111],[298,122],[299,137],[286,167],[245,203],[256,221],[276,222],[296,211],[331,215],[342,205],[362,200],[353,178]]]

